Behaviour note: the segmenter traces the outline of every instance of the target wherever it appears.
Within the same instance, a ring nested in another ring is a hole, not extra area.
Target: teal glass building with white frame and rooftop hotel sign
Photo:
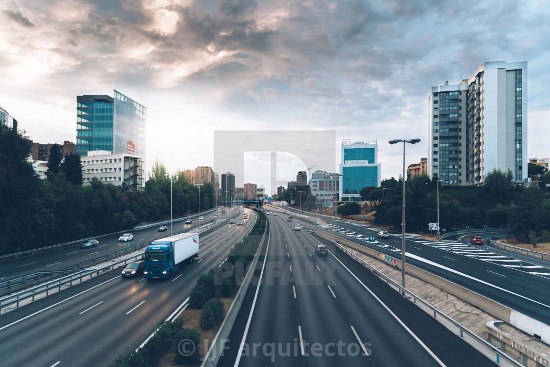
[[[381,164],[378,158],[377,141],[342,142],[342,164],[340,164],[339,195],[342,201],[359,201],[361,189],[367,186],[379,187]]]

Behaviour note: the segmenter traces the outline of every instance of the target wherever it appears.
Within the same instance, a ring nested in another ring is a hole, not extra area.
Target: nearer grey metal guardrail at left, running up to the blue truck
[[[100,268],[100,269],[94,269],[94,270],[79,269],[80,271],[78,273],[71,274],[63,278],[59,278],[58,280],[42,283],[42,285],[36,286],[34,288],[30,288],[29,290],[19,292],[17,294],[12,294],[11,296],[7,296],[4,298],[0,298],[0,313],[2,312],[2,308],[9,307],[10,305],[13,305],[13,304],[15,304],[16,307],[19,307],[19,303],[22,301],[25,301],[26,299],[32,298],[32,301],[34,301],[35,297],[38,296],[38,294],[46,293],[46,296],[47,296],[48,292],[54,290],[55,288],[57,288],[58,291],[61,291],[61,287],[64,285],[68,284],[69,286],[72,286],[73,282],[77,280],[80,280],[79,283],[81,283],[84,277],[90,276],[90,279],[91,279],[94,276],[94,274],[99,275],[101,271],[106,271],[106,269],[113,270],[116,265],[119,265],[122,263],[126,264],[127,262],[134,261],[134,259],[137,259],[142,255],[143,254],[140,253],[133,257],[120,260],[119,262],[109,264],[107,266],[103,266],[103,268]]]

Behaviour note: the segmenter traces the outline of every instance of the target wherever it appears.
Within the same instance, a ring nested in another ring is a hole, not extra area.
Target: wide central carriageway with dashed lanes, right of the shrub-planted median
[[[490,364],[329,241],[331,254],[317,256],[317,238],[295,221],[267,218],[261,285],[249,288],[218,366]]]

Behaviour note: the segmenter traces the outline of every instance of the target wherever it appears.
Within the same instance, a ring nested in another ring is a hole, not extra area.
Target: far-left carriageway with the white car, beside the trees
[[[219,212],[218,212],[219,213]],[[233,212],[232,212],[233,213]],[[231,213],[230,213],[231,214]],[[214,219],[214,212],[204,215],[205,221]],[[199,223],[199,217],[192,218],[192,224],[184,224],[184,221],[174,222],[172,232],[181,231]],[[220,219],[223,217],[221,216]],[[201,221],[202,223],[202,221]],[[118,238],[123,232],[117,235],[102,237],[99,239],[99,246],[92,248],[80,248],[81,241],[69,247],[56,249],[53,251],[37,253],[18,259],[10,259],[0,264],[0,282],[14,279],[20,276],[29,275],[38,271],[52,271],[69,268],[70,266],[84,263],[95,258],[121,251],[126,247],[133,247],[136,244],[146,243],[157,238],[166,237],[170,234],[170,224],[167,225],[168,231],[158,232],[158,226],[125,233],[133,233],[134,240],[129,242],[119,242]]]

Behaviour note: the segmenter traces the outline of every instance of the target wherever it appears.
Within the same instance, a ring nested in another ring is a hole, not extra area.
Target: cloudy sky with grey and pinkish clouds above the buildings
[[[528,155],[548,158],[550,14],[544,1],[5,0],[0,105],[41,143],[76,140],[76,96],[147,107],[147,170],[214,166],[214,132],[334,131],[378,141],[382,179],[427,157],[432,86],[484,62],[528,64]],[[524,87],[525,88],[525,87]],[[524,112],[525,114],[525,112]],[[524,118],[525,120],[525,118]],[[266,141],[270,135],[266,134]],[[246,144],[235,142],[235,144]],[[304,138],[304,144],[315,141]],[[332,147],[331,147],[332,148]],[[277,153],[277,180],[307,167]],[[244,177],[271,190],[271,153]],[[224,171],[219,171],[220,174]]]

